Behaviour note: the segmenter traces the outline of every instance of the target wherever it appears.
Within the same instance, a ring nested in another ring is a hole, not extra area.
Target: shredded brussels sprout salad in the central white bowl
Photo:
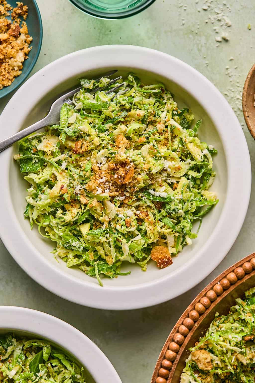
[[[144,271],[150,259],[172,264],[197,237],[193,222],[218,202],[208,191],[217,151],[197,137],[201,120],[179,110],[163,84],[133,74],[118,92],[89,93],[107,82],[81,80],[59,125],[19,141],[15,155],[30,184],[31,228],[57,242],[55,257],[67,267],[101,285],[101,274],[130,273],[120,271],[124,261]]]

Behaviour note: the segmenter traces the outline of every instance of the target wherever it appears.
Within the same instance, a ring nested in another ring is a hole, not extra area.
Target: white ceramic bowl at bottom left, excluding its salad
[[[83,365],[86,383],[121,383],[120,377],[103,352],[70,324],[41,311],[0,306],[0,334],[5,332],[47,339],[66,350]]]

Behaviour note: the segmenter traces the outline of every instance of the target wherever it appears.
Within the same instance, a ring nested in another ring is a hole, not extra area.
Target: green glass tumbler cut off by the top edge
[[[149,7],[155,0],[70,0],[88,15],[102,19],[133,16]]]

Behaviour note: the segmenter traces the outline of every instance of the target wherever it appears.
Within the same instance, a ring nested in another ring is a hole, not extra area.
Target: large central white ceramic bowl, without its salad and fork
[[[219,203],[204,218],[198,238],[186,246],[173,265],[147,272],[127,264],[131,275],[104,278],[104,287],[81,270],[57,263],[50,254],[54,244],[30,230],[24,221],[26,182],[13,160],[17,147],[0,154],[0,229],[2,240],[18,264],[38,283],[63,298],[101,309],[134,309],[178,296],[205,278],[225,257],[242,227],[250,187],[250,156],[244,133],[226,99],[214,85],[184,62],[143,47],[101,46],[84,49],[52,62],[34,74],[15,93],[0,116],[3,139],[45,115],[60,92],[81,76],[96,76],[109,69],[132,70],[145,82],[164,82],[180,105],[190,106],[203,124],[199,137],[214,145],[217,172],[212,190]]]

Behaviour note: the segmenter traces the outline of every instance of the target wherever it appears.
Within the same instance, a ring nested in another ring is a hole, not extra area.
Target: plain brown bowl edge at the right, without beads
[[[245,123],[253,139],[255,139],[255,64],[250,69],[243,89],[242,107]]]

